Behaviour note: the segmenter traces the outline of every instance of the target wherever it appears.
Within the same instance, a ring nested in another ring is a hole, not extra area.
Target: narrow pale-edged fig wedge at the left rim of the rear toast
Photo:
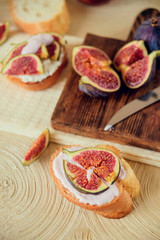
[[[6,57],[2,60],[2,64],[6,64],[10,59],[21,55],[21,51],[23,49],[23,47],[27,44],[27,42],[22,42],[19,44],[16,44],[10,51],[9,53],[6,55]]]

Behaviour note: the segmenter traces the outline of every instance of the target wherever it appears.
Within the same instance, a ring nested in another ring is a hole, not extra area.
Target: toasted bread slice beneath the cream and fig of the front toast
[[[73,147],[73,146],[64,146],[64,148],[70,148],[70,147]],[[110,202],[106,202],[102,205],[96,205],[96,204],[91,205],[89,203],[83,203],[79,201],[79,199],[72,192],[70,192],[69,189],[64,187],[64,185],[61,182],[61,179],[57,178],[55,174],[55,170],[53,169],[53,162],[55,158],[62,152],[63,148],[57,149],[52,154],[51,161],[50,161],[51,175],[61,194],[72,203],[80,207],[83,207],[85,209],[93,210],[94,212],[102,215],[103,217],[115,218],[115,219],[124,217],[132,211],[132,208],[133,208],[132,198],[138,197],[140,194],[140,189],[141,189],[140,183],[136,178],[130,165],[120,156],[120,153],[116,148],[108,145],[98,145],[96,147],[108,149],[110,151],[113,151],[116,155],[118,155],[120,158],[120,162],[126,172],[125,178],[123,180],[121,179],[116,180],[116,186],[119,190],[119,195],[115,196],[113,200],[111,200]]]

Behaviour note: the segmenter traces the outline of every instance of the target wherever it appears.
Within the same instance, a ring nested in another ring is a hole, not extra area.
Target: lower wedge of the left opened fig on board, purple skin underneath
[[[79,80],[79,90],[91,97],[107,97],[121,86],[118,74],[110,67],[97,74],[83,76]]]

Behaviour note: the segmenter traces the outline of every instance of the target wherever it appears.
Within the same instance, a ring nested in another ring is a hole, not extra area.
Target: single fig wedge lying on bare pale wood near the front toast
[[[49,129],[45,129],[42,134],[35,140],[32,146],[29,148],[27,153],[25,154],[22,164],[24,166],[29,166],[33,163],[37,158],[39,158],[42,153],[46,150],[49,144]]]

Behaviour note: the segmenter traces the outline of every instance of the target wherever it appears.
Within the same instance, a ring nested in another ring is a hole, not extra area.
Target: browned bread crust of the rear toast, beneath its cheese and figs
[[[51,87],[53,84],[56,83],[63,68],[66,66],[68,62],[65,47],[62,47],[62,48],[63,48],[64,55],[63,55],[63,58],[61,59],[60,66],[55,70],[55,72],[51,76],[48,76],[47,78],[43,79],[41,82],[26,83],[26,82],[23,82],[17,76],[15,77],[11,75],[7,75],[7,79],[10,80],[12,83],[17,84],[18,86],[30,91],[41,91]]]

